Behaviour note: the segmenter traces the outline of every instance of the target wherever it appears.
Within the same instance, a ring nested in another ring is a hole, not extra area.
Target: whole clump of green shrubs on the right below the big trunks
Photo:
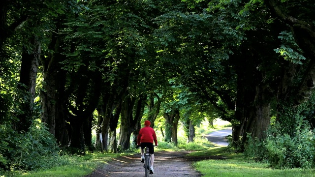
[[[249,136],[244,155],[256,161],[266,160],[275,169],[315,168],[315,134],[309,124],[297,125],[291,136],[282,132],[275,125],[264,141]]]

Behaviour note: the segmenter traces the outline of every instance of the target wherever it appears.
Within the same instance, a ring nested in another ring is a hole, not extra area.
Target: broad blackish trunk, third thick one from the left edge
[[[74,94],[76,105],[68,105],[68,110],[71,111],[71,113],[68,113],[68,121],[72,127],[70,147],[81,150],[84,149],[85,145],[84,133],[88,136],[87,138],[91,136],[91,115],[99,103],[101,92],[101,74],[89,72],[87,67],[88,65],[84,65],[83,68],[80,68],[75,73],[72,79],[74,83],[71,83],[71,87],[67,90],[71,91],[71,88],[76,88],[72,93]],[[84,126],[87,126],[86,132],[84,132]],[[88,143],[90,143],[89,141],[91,140],[88,140]]]

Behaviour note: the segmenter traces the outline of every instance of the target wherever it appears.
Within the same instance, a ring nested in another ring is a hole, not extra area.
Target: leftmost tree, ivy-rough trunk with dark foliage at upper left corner
[[[33,119],[32,105],[35,97],[38,60],[41,53],[40,45],[45,41],[43,37],[45,33],[44,28],[51,27],[49,24],[51,15],[59,14],[63,9],[63,5],[60,2],[56,3],[54,0],[45,4],[43,2],[29,2],[24,0],[4,0],[1,1],[0,8],[0,53],[3,55],[1,59],[8,59],[4,56],[8,51],[8,45],[15,48],[17,54],[21,54],[22,57],[20,71],[21,87],[18,89],[24,93],[18,95],[18,97],[21,97],[20,101],[22,102],[21,107],[18,107],[18,109],[21,109],[21,112],[16,115],[19,121],[13,124],[19,132],[22,130],[28,131]],[[42,11],[39,12],[39,9],[42,9]],[[13,37],[13,35],[15,36]],[[7,43],[9,41],[10,44]],[[5,63],[4,60],[2,61]],[[26,97],[28,98],[24,99]]]

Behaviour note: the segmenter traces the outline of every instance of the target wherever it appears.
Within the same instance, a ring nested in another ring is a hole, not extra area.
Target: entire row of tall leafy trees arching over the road
[[[230,121],[242,150],[248,134],[265,137],[272,116],[293,134],[297,108],[314,89],[313,7],[308,0],[2,0],[2,136],[26,133],[40,118],[62,147],[93,149],[95,126],[102,149],[117,152],[135,143],[144,118],[175,145],[185,122],[191,142],[197,115]],[[14,143],[5,140],[0,154],[9,156]]]

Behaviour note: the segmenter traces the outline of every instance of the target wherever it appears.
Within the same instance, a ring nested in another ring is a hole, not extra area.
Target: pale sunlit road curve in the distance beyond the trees
[[[221,130],[217,130],[214,132],[205,135],[210,142],[218,145],[218,146],[228,146],[228,142],[226,136],[232,134],[232,127],[227,127]]]

